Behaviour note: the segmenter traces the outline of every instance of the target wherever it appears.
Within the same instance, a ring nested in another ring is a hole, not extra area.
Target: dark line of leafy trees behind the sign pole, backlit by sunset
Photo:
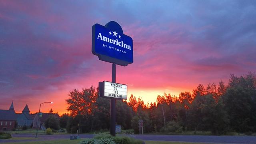
[[[74,89],[68,96],[70,115],[62,115],[61,127],[72,133],[109,130],[110,99],[98,97],[98,88]],[[144,132],[256,132],[256,75],[231,74],[226,85],[222,81],[199,84],[178,97],[164,92],[150,104],[132,94],[127,101],[116,101],[116,124],[122,129],[138,133],[140,119]]]

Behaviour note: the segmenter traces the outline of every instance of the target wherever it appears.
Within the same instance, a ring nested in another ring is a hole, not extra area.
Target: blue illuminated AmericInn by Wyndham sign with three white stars
[[[92,26],[92,53],[100,60],[127,66],[133,63],[132,38],[123,34],[121,26],[108,22]]]

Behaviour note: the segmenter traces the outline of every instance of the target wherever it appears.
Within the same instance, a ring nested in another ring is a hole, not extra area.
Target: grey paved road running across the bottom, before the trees
[[[13,137],[34,138],[34,134],[13,134]],[[26,142],[38,140],[58,140],[69,139],[71,134],[59,135],[38,135],[38,139],[34,140],[0,140],[1,142]],[[93,134],[80,134],[80,138],[92,138]],[[140,140],[164,140],[164,141],[180,141],[180,142],[206,142],[206,143],[222,143],[222,144],[256,144],[256,136],[183,136],[183,135],[127,135]]]

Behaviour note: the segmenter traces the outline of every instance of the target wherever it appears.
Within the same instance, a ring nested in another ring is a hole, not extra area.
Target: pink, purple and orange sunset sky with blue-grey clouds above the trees
[[[116,82],[144,102],[256,72],[255,0],[0,0],[0,109],[62,114],[70,90],[111,81],[91,44],[112,20],[134,46]]]

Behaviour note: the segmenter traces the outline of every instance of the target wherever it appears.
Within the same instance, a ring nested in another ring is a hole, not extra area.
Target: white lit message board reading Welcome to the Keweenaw
[[[99,82],[99,96],[127,100],[127,85],[114,82]]]

